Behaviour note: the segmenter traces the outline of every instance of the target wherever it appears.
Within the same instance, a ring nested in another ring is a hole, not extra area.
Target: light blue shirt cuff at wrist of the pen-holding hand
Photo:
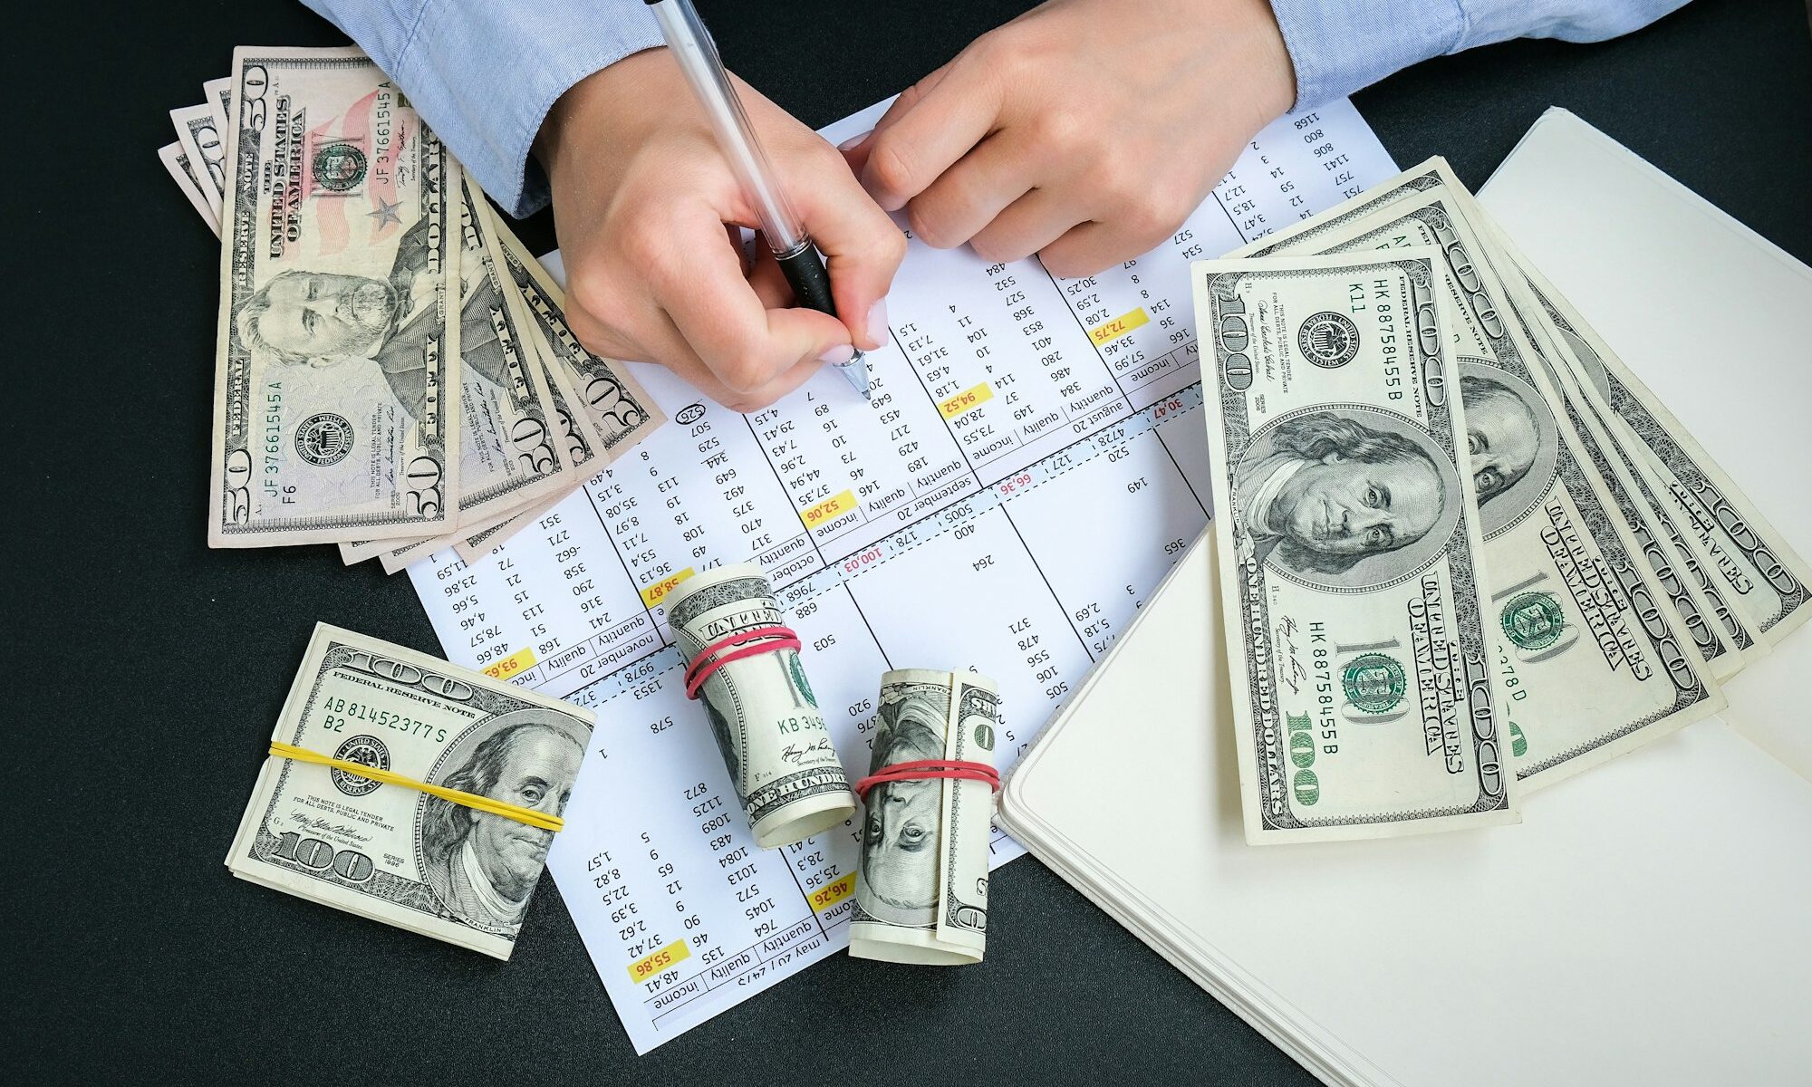
[[[428,0],[391,76],[498,205],[547,205],[547,111],[585,76],[661,43],[641,0]]]

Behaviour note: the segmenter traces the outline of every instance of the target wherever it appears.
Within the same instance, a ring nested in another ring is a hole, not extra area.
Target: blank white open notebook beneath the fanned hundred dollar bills
[[[1480,196],[1812,554],[1812,272],[1564,111]],[[1812,634],[1520,826],[1259,850],[1212,547],[1018,763],[1004,830],[1328,1083],[1805,1082]]]

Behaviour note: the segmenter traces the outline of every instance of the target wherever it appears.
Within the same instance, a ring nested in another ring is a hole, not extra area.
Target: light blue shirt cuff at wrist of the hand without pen
[[[1450,53],[1464,33],[1455,0],[1270,0],[1296,65],[1296,105],[1314,107],[1419,60]]]

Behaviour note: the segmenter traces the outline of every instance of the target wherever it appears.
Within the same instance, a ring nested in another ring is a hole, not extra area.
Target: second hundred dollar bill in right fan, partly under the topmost
[[[1692,596],[1682,578],[1656,580],[1665,556],[1631,534],[1625,518],[1640,520],[1640,509],[1620,507],[1587,460],[1582,422],[1515,326],[1484,246],[1457,212],[1462,197],[1457,181],[1424,187],[1337,228],[1301,232],[1283,252],[1433,246],[1442,255],[1511,765],[1535,788],[1714,714],[1725,699],[1676,625],[1682,611],[1696,611]]]

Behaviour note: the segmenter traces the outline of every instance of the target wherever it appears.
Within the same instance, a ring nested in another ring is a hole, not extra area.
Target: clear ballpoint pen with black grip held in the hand
[[[743,101],[736,96],[736,87],[730,85],[730,76],[723,71],[723,60],[718,56],[718,45],[698,18],[692,0],[647,0],[647,5],[654,9],[654,18],[661,24],[669,53],[680,62],[680,71],[685,72],[687,83],[692,85],[705,107],[710,129],[718,134],[718,145],[723,147],[723,158],[730,159],[730,170],[736,172],[748,203],[754,205],[756,216],[761,219],[761,237],[766,239],[774,259],[779,261],[786,283],[794,288],[794,297],[803,306],[835,317],[837,306],[830,297],[830,274],[824,272],[824,257],[819,255],[812,236],[805,232],[799,212],[794,210],[779,178],[774,176],[774,165],[761,150],[761,143],[756,141],[756,130],[748,125]],[[868,395],[868,359],[861,350],[839,362],[837,370],[857,393]]]

